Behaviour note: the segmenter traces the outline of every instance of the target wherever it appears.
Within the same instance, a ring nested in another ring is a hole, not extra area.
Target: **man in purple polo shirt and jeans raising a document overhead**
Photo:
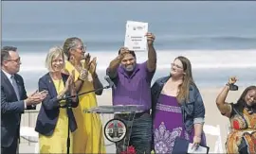
[[[115,118],[121,119],[130,132],[130,143],[136,148],[137,153],[150,153],[152,142],[151,110],[151,81],[155,75],[156,53],[154,48],[155,36],[144,33],[148,60],[137,63],[134,50],[131,47],[121,47],[119,56],[112,60],[107,68],[107,75],[114,81],[113,105],[138,105],[142,112],[136,113],[134,121],[129,121],[129,114],[116,114]],[[129,48],[128,48],[129,47]],[[117,143],[117,153],[125,151],[125,138]]]

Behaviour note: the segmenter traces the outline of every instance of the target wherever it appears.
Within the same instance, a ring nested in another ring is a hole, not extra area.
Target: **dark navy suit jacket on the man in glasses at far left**
[[[18,85],[20,101],[9,82],[9,78],[1,70],[1,146],[9,147],[14,137],[19,138],[21,114],[25,110],[24,100],[27,99],[23,77],[14,75]],[[35,107],[27,106],[27,110],[35,110]]]

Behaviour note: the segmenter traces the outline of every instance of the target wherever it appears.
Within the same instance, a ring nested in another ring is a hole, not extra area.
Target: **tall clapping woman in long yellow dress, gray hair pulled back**
[[[82,40],[68,38],[64,42],[66,56],[65,71],[69,74],[75,70],[75,85],[78,94],[102,88],[100,79],[96,74],[96,58],[90,61],[90,56],[85,58]],[[99,114],[84,113],[83,110],[97,106],[96,94],[101,95],[102,90],[96,93],[82,94],[79,96],[79,106],[73,109],[78,124],[74,132],[74,153],[105,153],[103,129]]]

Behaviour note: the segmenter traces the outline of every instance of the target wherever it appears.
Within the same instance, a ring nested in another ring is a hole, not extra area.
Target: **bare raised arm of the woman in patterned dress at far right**
[[[229,82],[227,83],[227,85],[223,88],[223,90],[221,91],[220,94],[218,94],[217,98],[216,98],[216,104],[217,107],[219,109],[219,111],[227,116],[230,117],[231,115],[231,111],[232,111],[232,107],[229,103],[226,102],[226,98],[227,95],[229,94],[229,85],[235,83],[237,80],[236,77],[230,77],[229,78]]]

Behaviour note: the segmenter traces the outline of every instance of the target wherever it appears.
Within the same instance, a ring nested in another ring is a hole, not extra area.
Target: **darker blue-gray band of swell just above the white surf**
[[[229,35],[188,35],[188,36],[169,36],[169,35],[156,35],[155,47],[160,50],[165,49],[256,49],[256,36],[229,36]],[[27,52],[48,50],[53,45],[63,45],[66,37],[61,38],[16,38],[4,39],[2,45],[15,45],[19,49]],[[124,44],[123,36],[112,36],[111,39],[106,36],[84,36],[80,37],[88,50],[114,50]]]

